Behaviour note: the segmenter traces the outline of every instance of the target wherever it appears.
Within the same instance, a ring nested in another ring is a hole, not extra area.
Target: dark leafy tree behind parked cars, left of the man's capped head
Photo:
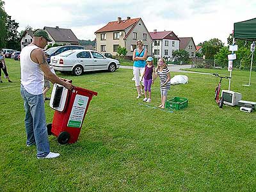
[[[17,29],[19,28],[19,23],[12,20],[12,16],[6,15],[6,47],[9,49],[20,49],[19,45],[19,32]]]

